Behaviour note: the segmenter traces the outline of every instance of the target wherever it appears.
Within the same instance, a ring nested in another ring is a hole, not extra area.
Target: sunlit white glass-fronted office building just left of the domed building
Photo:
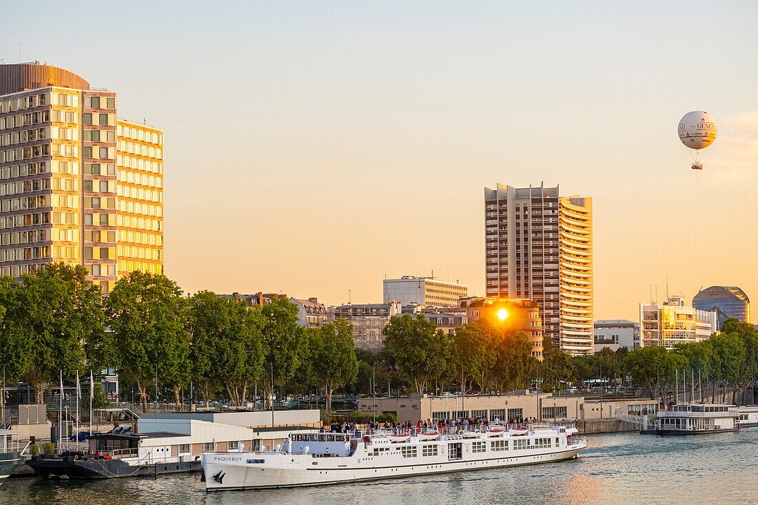
[[[663,346],[706,340],[716,333],[716,312],[684,306],[680,296],[669,296],[662,305],[640,304],[640,347]]]

